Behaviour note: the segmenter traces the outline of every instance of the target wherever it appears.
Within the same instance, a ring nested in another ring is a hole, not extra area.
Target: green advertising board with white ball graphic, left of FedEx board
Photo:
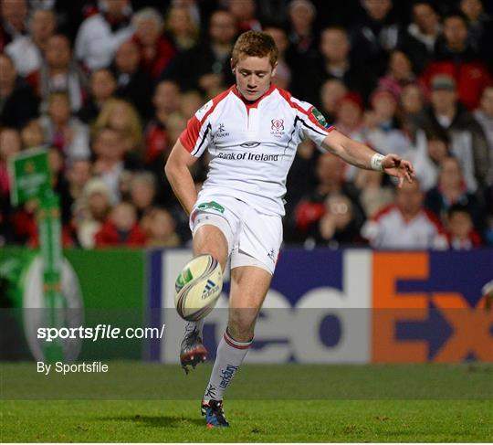
[[[147,275],[144,250],[64,250],[61,293],[65,309],[53,311],[44,304],[43,261],[36,253],[37,250],[16,247],[0,249],[0,282],[5,283],[5,292],[0,292],[0,308],[5,308],[4,318],[8,318],[11,325],[8,330],[11,340],[6,344],[4,352],[8,353],[10,349],[13,359],[30,358],[26,349],[28,333],[36,321],[47,320],[50,314],[55,317],[63,314],[70,321],[66,325],[75,327],[106,324],[124,329],[146,325]],[[84,308],[83,311],[78,307]],[[3,327],[1,324],[5,322],[1,315],[0,309],[0,331]],[[53,323],[53,326],[58,326],[58,323]],[[138,338],[97,342],[86,340],[78,347],[79,360],[141,359],[146,356],[145,341]],[[75,356],[74,348],[70,347],[64,353]]]

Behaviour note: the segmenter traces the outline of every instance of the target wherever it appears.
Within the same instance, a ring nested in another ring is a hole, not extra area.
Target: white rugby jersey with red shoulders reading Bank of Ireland
[[[253,103],[236,85],[208,101],[188,121],[180,142],[199,157],[208,149],[209,173],[199,194],[226,195],[267,215],[284,215],[286,177],[299,143],[319,146],[333,130],[308,102],[275,85]]]

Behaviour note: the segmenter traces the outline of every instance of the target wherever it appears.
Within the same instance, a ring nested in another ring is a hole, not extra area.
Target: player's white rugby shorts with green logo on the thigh
[[[282,243],[280,216],[259,213],[232,196],[201,196],[190,214],[192,234],[205,225],[225,235],[231,269],[257,266],[274,274]]]

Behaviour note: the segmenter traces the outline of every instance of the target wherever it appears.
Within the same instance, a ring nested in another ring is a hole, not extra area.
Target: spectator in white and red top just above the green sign
[[[67,94],[56,92],[49,96],[47,114],[39,119],[39,123],[45,143],[57,148],[68,161],[89,158],[89,129],[78,118],[71,117]]]

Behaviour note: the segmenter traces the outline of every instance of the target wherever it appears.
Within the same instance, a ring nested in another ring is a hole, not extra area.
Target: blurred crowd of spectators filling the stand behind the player
[[[489,5],[487,5],[489,3]],[[397,188],[299,146],[287,244],[493,245],[493,18],[482,0],[0,0],[0,246],[37,246],[12,207],[11,156],[46,147],[64,246],[176,247],[188,220],[163,175],[186,122],[234,83],[239,33],[269,33],[275,83],[382,154]],[[197,189],[207,155],[193,167]]]

